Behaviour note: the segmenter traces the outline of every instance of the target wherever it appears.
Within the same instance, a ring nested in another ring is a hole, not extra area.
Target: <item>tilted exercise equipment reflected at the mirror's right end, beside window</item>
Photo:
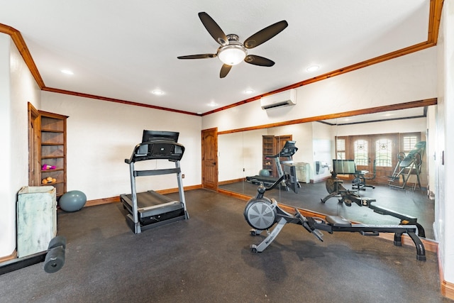
[[[426,141],[419,141],[414,145],[414,149],[410,150],[408,155],[405,155],[405,153],[402,152],[397,154],[397,165],[394,167],[394,172],[392,172],[392,176],[390,176],[388,180],[388,185],[390,187],[404,189],[406,183],[409,181],[410,175],[416,175],[418,187],[421,189],[419,174],[421,173],[424,150],[426,150]],[[401,176],[402,183],[400,182]],[[414,189],[415,188],[416,183],[414,184]]]

